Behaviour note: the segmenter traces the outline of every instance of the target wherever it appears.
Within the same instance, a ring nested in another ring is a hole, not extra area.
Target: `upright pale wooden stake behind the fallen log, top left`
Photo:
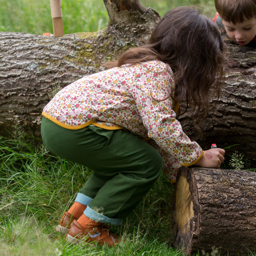
[[[55,37],[63,36],[61,0],[50,0],[50,7],[53,22],[53,34]]]

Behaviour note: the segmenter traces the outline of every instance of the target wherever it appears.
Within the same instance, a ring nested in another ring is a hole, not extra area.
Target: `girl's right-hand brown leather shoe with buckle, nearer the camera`
[[[74,242],[75,244],[80,242],[85,242],[86,244],[98,242],[98,244],[114,246],[120,242],[121,239],[119,236],[112,234],[107,226],[103,226],[102,224],[94,228],[85,229],[76,220],[73,220],[66,234],[66,240]]]

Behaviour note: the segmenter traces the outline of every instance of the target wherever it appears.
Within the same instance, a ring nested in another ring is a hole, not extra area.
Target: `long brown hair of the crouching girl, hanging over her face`
[[[169,64],[176,84],[174,100],[186,100],[198,127],[196,123],[208,116],[213,84],[219,97],[225,60],[223,50],[217,25],[196,7],[183,6],[161,18],[147,44],[127,50],[112,66],[149,60]]]

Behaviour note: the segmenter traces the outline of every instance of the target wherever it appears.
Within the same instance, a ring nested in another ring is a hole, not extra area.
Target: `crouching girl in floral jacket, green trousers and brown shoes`
[[[178,7],[161,18],[147,44],[54,96],[43,109],[44,143],[93,170],[57,230],[68,230],[71,241],[114,245],[119,237],[102,224],[122,224],[162,170],[175,182],[180,165],[220,167],[225,151],[203,151],[176,112],[186,100],[196,121],[207,116],[223,60],[216,24],[193,7]]]

